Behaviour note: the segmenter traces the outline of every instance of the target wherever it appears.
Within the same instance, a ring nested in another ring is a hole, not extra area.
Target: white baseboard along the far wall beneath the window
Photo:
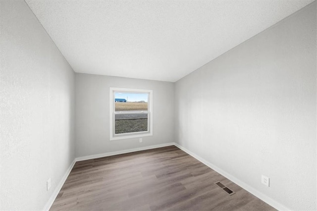
[[[103,153],[103,154],[97,154],[97,155],[91,155],[91,156],[84,156],[84,157],[76,158],[76,161],[95,159],[95,158],[103,158],[103,157],[108,157],[108,156],[121,155],[121,154],[125,154],[125,153],[133,153],[133,152],[138,152],[138,151],[142,151],[142,150],[150,150],[150,149],[173,146],[173,145],[174,145],[174,142],[170,142],[170,143],[165,143],[165,144],[152,145],[152,146],[148,146],[148,147],[140,147],[140,148],[134,148],[134,149],[129,149],[129,150],[121,150],[121,151],[111,152],[111,153]]]

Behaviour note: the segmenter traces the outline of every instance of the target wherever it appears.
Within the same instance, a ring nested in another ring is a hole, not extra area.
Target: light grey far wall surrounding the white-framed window
[[[174,84],[75,74],[76,157],[174,142]],[[153,90],[153,136],[109,141],[109,88]]]

